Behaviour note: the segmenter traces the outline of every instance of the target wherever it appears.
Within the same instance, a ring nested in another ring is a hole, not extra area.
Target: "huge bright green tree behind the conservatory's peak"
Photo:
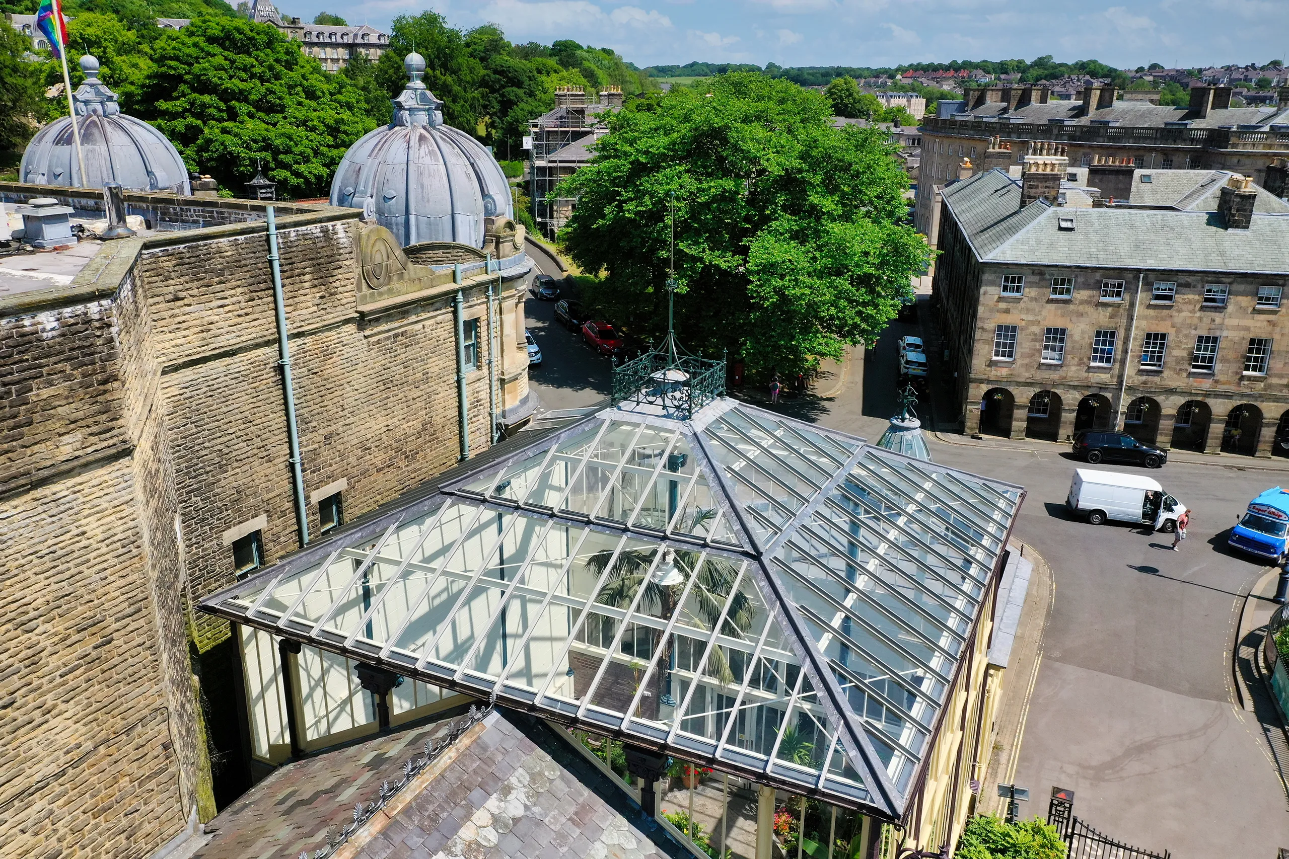
[[[605,272],[592,299],[623,325],[665,327],[669,202],[682,341],[750,370],[791,372],[875,337],[928,249],[907,179],[877,129],[837,130],[821,94],[764,75],[673,89],[611,121],[559,196],[574,260]]]

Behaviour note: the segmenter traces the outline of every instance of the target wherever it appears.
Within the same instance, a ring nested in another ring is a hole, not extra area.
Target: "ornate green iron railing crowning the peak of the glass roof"
[[[677,352],[646,352],[614,368],[614,406],[652,407],[687,421],[724,395],[726,364]]]

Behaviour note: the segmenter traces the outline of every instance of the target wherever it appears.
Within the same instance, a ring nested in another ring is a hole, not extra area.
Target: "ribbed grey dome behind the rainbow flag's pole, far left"
[[[155,127],[121,113],[116,93],[98,79],[98,61],[80,61],[85,82],[72,93],[80,130],[85,176],[80,175],[71,117],[54,120],[36,133],[22,153],[22,182],[70,188],[102,188],[119,183],[129,191],[192,193],[188,169],[174,144]]]

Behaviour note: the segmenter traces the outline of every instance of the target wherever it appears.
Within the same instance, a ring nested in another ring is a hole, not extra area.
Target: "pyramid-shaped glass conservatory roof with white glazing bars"
[[[731,399],[615,407],[202,608],[893,819],[1022,496]]]

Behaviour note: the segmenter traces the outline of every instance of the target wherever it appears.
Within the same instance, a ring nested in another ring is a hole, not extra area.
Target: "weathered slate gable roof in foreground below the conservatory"
[[[402,765],[456,719],[410,728],[289,764],[213,822],[193,859],[293,859],[326,847],[378,801]],[[367,818],[344,850],[354,859],[688,859],[558,728],[498,710],[467,730]]]

